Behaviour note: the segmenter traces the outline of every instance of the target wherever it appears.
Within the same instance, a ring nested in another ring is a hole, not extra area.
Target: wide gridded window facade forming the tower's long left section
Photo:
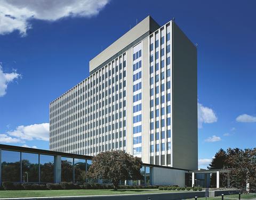
[[[50,103],[50,150],[93,156],[110,149],[126,149],[125,53]]]

